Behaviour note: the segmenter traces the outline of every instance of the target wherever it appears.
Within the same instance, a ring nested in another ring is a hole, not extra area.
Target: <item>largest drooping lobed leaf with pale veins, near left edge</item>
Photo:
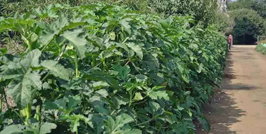
[[[28,103],[32,103],[35,91],[42,88],[40,78],[37,72],[28,70],[22,78],[8,85],[7,94],[13,96],[18,108],[25,108]]]

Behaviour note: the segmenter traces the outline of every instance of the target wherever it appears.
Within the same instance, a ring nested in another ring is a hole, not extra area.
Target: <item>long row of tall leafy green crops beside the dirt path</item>
[[[0,32],[17,31],[26,48],[0,52],[1,103],[16,103],[0,134],[185,134],[194,121],[208,131],[202,104],[223,76],[227,43],[194,22],[100,4],[0,17]]]

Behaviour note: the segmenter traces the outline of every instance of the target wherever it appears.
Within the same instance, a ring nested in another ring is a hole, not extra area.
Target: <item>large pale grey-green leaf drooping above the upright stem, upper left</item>
[[[83,59],[85,56],[85,45],[87,43],[87,40],[85,38],[79,37],[79,34],[81,34],[82,32],[82,29],[75,29],[73,31],[65,31],[64,34],[61,35],[68,41],[72,42],[71,45],[74,45],[75,50],[81,59]]]

